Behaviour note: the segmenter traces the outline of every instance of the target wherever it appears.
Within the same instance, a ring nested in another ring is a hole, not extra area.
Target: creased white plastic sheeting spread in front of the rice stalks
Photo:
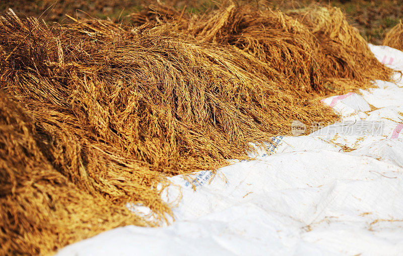
[[[403,70],[403,52],[370,48]],[[257,150],[255,160],[234,161],[216,175],[206,170],[193,182],[172,177],[165,194],[177,202],[172,225],[116,228],[58,254],[403,253],[403,80],[374,82],[378,88],[323,100],[342,123],[274,137],[262,145],[273,154]],[[382,124],[376,131],[361,127],[376,122]]]

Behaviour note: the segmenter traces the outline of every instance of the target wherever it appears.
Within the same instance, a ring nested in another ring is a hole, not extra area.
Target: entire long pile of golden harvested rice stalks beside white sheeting
[[[338,9],[153,9],[137,27],[0,18],[0,254],[158,225],[166,177],[244,158],[292,120],[336,120],[320,97],[391,74]]]

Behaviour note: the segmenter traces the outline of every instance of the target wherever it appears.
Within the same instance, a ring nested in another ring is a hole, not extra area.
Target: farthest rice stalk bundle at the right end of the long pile
[[[370,80],[389,80],[391,69],[380,63],[358,29],[350,26],[339,8],[309,8],[292,15],[305,24],[320,47],[314,53],[324,81],[352,90],[371,87]],[[344,85],[339,84],[344,83]]]

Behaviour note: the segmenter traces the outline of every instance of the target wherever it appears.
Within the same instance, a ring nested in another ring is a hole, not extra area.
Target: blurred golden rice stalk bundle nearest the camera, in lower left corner
[[[122,225],[151,225],[80,190],[42,153],[32,118],[0,93],[0,254],[45,254]]]

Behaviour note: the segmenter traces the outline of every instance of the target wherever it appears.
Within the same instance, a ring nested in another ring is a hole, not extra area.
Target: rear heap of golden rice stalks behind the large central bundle
[[[233,46],[262,61],[260,69],[277,71],[281,80],[288,79],[286,89],[299,93],[340,94],[368,87],[371,79],[388,80],[391,74],[338,8],[311,7],[286,15],[231,4],[204,15],[186,15],[158,5],[132,19],[182,38]]]

